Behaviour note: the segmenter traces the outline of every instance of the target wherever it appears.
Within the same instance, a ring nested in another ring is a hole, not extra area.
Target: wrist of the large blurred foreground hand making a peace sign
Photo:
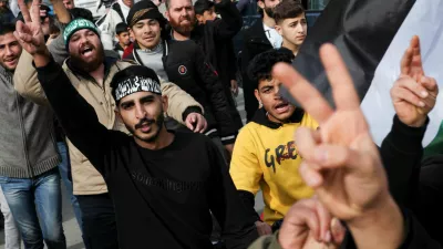
[[[388,195],[375,208],[347,221],[358,248],[399,248],[405,237],[404,218]]]

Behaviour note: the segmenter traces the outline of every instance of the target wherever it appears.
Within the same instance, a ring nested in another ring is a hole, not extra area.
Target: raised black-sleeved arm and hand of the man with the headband
[[[94,108],[72,86],[62,68],[52,60],[44,43],[39,8],[35,8],[40,1],[33,0],[32,4],[34,8],[31,8],[30,14],[23,0],[19,0],[25,23],[17,23],[14,35],[22,48],[32,54],[38,79],[66,136],[106,176],[109,170],[104,166],[104,154],[111,149],[111,139],[114,137],[111,134],[117,132],[107,131],[99,122]]]

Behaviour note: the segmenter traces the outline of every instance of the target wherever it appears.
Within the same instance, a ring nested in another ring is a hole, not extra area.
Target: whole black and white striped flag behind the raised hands
[[[331,87],[319,59],[322,43],[340,51],[362,100],[361,107],[378,145],[391,131],[394,108],[390,90],[413,35],[420,37],[426,75],[443,84],[443,0],[331,0],[301,45],[293,66],[333,105]],[[442,72],[442,73],[440,73]],[[286,89],[281,95],[297,105]],[[443,103],[440,94],[423,145],[443,153]]]

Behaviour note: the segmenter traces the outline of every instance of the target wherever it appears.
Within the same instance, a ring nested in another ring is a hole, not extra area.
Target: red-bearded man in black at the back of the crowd
[[[241,15],[235,4],[229,0],[215,0],[215,10],[220,14],[222,20],[219,22],[206,22],[205,24],[198,24],[192,0],[166,0],[165,4],[166,18],[172,27],[169,39],[177,41],[194,40],[202,46],[206,61],[216,66],[217,72],[222,72],[222,69],[217,66],[216,51],[224,43],[231,42],[243,24]],[[230,83],[227,84],[230,85]],[[229,113],[233,115],[233,111]],[[243,126],[241,120],[239,120],[239,123],[238,128]],[[234,144],[225,147],[231,154]]]

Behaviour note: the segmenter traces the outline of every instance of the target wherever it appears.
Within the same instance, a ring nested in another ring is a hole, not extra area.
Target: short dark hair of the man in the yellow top
[[[255,56],[248,65],[248,76],[258,89],[259,81],[272,79],[272,66],[278,62],[291,63],[296,56],[288,49],[271,49]]]

